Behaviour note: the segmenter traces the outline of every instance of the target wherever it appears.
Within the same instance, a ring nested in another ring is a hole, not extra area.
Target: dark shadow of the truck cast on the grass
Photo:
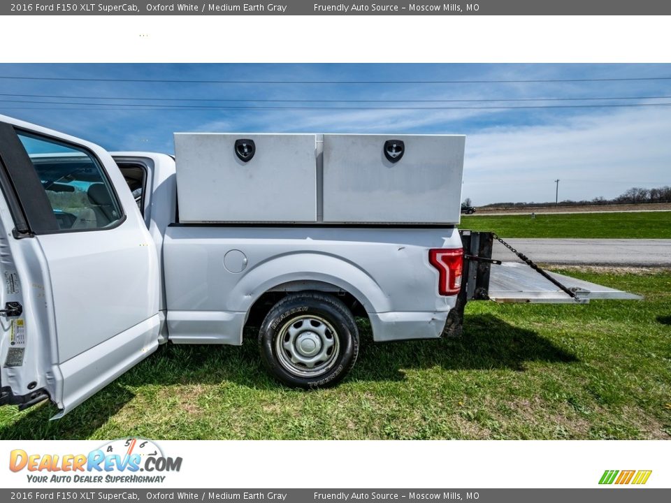
[[[505,323],[491,314],[466,316],[463,337],[374,343],[361,328],[361,351],[351,381],[400,381],[403,370],[442,367],[447,370],[509,369],[524,371],[530,361],[571,363],[572,353],[530,330]],[[134,388],[234,383],[246,388],[282,388],[261,364],[256,333],[245,334],[243,347],[166,344],[156,354],[106,386],[59,421],[48,421],[57,409],[43,404],[18,421],[3,426],[2,439],[82,439],[89,437],[134,398]],[[138,391],[140,393],[140,391]],[[132,432],[128,432],[132,435]]]

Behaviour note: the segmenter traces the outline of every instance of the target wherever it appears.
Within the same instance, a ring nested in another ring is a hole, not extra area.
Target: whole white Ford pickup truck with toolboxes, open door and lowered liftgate
[[[59,417],[159,344],[239,345],[249,325],[274,377],[313,388],[354,365],[355,316],[405,340],[458,328],[469,299],[635,298],[558,275],[572,295],[521,288],[524,265],[491,266],[491,235],[463,244],[463,149],[178,133],[175,174],[172,156],[0,116],[0,404],[48,399]]]

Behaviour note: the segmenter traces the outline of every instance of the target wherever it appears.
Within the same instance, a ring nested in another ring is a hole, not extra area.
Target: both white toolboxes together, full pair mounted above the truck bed
[[[180,222],[459,224],[464,136],[175,133]]]

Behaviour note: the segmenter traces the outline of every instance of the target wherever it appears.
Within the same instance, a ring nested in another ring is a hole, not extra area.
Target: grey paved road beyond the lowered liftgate
[[[511,238],[506,241],[539,263],[671,267],[671,240]],[[498,242],[494,242],[493,258],[519,260]]]

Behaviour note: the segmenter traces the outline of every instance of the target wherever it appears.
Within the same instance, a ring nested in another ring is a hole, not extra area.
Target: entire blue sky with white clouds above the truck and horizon
[[[671,97],[642,99],[671,96],[671,80],[547,82],[671,77],[670,64],[0,64],[0,77],[544,80],[352,85],[0,78],[0,113],[91,140],[108,150],[166,153],[173,152],[175,131],[466,134],[462,194],[476,205],[554,201],[557,178],[560,200],[612,198],[629,187],[671,185],[671,107],[468,108],[671,103]],[[630,99],[601,99],[616,97]],[[554,100],[538,101],[549,98]],[[241,99],[265,101],[222,101]],[[521,99],[535,101],[449,101]],[[172,108],[162,108],[165,105]],[[221,109],[226,106],[256,109]],[[324,106],[333,110],[295,110]],[[411,109],[419,107],[424,109]]]

